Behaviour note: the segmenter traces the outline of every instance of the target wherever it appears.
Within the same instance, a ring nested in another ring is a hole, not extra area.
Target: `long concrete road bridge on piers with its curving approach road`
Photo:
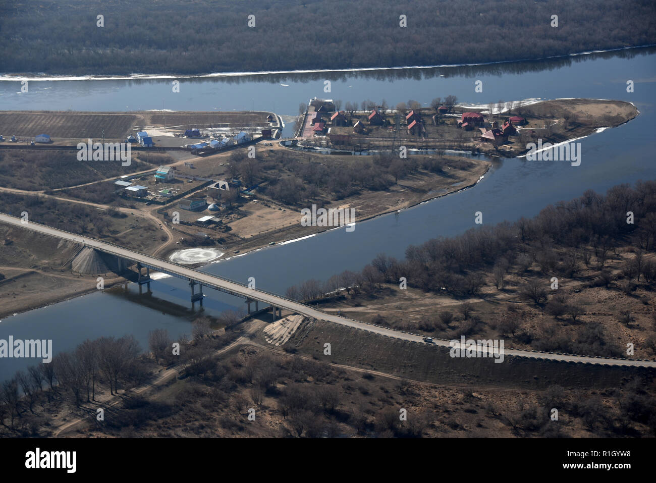
[[[237,297],[245,298],[249,305],[249,309],[251,303],[254,301],[256,303],[256,310],[258,302],[271,305],[274,312],[274,319],[276,318],[276,310],[278,311],[278,314],[280,314],[281,309],[284,308],[285,310],[295,312],[296,314],[301,314],[319,320],[326,320],[328,322],[334,322],[335,324],[340,324],[342,326],[354,327],[356,329],[377,333],[385,337],[392,337],[394,339],[401,339],[414,343],[424,343],[422,335],[419,334],[405,333],[396,331],[394,329],[388,329],[386,327],[367,324],[366,322],[359,322],[357,320],[348,319],[338,315],[327,314],[326,312],[321,312],[321,310],[318,310],[313,306],[287,299],[287,297],[282,297],[281,295],[276,295],[262,289],[251,289],[247,285],[240,284],[234,280],[229,280],[217,275],[206,274],[199,270],[194,270],[194,268],[187,268],[185,266],[180,266],[158,257],[144,255],[143,253],[138,253],[127,248],[119,247],[113,243],[101,242],[100,240],[95,240],[93,238],[66,232],[64,230],[59,230],[58,228],[52,228],[50,226],[45,226],[43,224],[35,223],[32,221],[24,222],[20,218],[5,215],[4,213],[0,213],[0,222],[5,222],[20,228],[26,228],[28,230],[33,230],[41,234],[54,236],[62,240],[68,240],[69,242],[79,243],[85,247],[90,247],[92,249],[108,253],[109,255],[113,255],[118,259],[132,261],[137,264],[139,272],[138,282],[140,284],[144,284],[150,281],[150,269],[187,280],[192,287],[192,301],[194,299],[200,300],[203,297],[202,287],[205,286],[218,291],[222,291],[224,293],[228,293],[230,295],[236,295]],[[146,276],[142,275],[142,268],[146,268]],[[195,285],[199,285],[199,293],[194,292]],[[449,347],[449,341],[443,339],[434,339],[432,345]],[[504,355],[533,359],[557,360],[561,362],[579,362],[583,364],[656,368],[656,360],[620,359],[607,357],[602,358],[519,349],[504,349]]]

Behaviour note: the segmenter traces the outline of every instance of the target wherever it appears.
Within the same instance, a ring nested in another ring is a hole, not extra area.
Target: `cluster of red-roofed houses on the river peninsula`
[[[525,115],[512,112],[489,114],[493,108],[467,109],[455,104],[455,99],[448,105],[432,102],[431,108],[409,101],[395,109],[367,102],[369,110],[356,110],[350,103],[346,110],[338,110],[336,103],[340,101],[310,100],[297,131],[298,137],[303,138],[299,146],[355,151],[394,150],[399,146],[424,150],[492,148],[513,156],[512,152],[518,151],[513,145],[520,140],[520,131],[534,135],[535,129],[544,129],[544,121],[539,119],[531,122]],[[520,102],[512,110],[527,111]]]

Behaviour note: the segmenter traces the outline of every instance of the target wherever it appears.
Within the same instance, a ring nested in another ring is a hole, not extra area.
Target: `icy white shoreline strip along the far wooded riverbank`
[[[394,66],[394,67],[361,67],[361,68],[342,68],[342,69],[309,69],[309,70],[270,70],[257,72],[213,72],[209,74],[129,74],[129,75],[35,75],[26,74],[0,74],[0,81],[115,81],[115,80],[155,80],[155,79],[211,79],[214,77],[247,77],[252,75],[276,75],[276,74],[315,74],[321,72],[375,72],[380,70],[406,70],[406,69],[436,69],[452,67],[479,67],[494,66],[499,64],[513,64],[515,62],[538,62],[540,60],[549,60],[554,58],[568,58],[583,55],[603,54],[607,52],[619,52],[631,49],[646,49],[656,47],[656,44],[631,45],[629,47],[617,47],[615,49],[605,49],[596,51],[583,51],[571,54],[551,55],[537,58],[520,58],[514,60],[497,60],[495,62],[478,62],[474,64],[436,64],[432,66]]]

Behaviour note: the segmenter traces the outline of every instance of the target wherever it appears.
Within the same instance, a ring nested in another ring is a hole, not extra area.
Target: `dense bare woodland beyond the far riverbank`
[[[649,0],[6,0],[4,72],[201,74],[497,62],[656,43]],[[104,15],[104,26],[96,17]],[[255,15],[255,27],[248,16]],[[407,27],[400,26],[400,15]],[[558,27],[551,16],[558,15]]]

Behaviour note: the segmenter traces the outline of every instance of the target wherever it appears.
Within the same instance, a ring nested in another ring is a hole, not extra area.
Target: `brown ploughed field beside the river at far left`
[[[135,114],[83,112],[0,112],[0,133],[34,137],[47,134],[52,138],[127,137],[139,117]]]

